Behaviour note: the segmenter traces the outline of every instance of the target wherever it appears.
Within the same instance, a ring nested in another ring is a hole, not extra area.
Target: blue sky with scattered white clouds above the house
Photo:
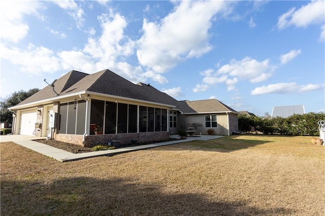
[[[1,99],[110,69],[236,111],[325,109],[324,1],[1,1]]]

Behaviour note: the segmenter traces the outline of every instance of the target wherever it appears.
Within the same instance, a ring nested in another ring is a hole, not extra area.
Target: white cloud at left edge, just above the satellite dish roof
[[[27,74],[54,73],[60,69],[60,60],[53,51],[45,47],[29,44],[25,50],[1,47],[2,58],[20,65],[21,71]],[[71,69],[71,68],[70,68]]]

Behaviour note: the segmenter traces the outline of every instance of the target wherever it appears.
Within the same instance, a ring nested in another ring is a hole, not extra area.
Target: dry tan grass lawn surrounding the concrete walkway
[[[325,147],[239,135],[58,162],[1,143],[1,215],[324,215]]]

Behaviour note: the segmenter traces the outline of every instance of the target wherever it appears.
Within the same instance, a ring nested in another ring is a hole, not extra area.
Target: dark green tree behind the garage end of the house
[[[8,110],[9,107],[17,105],[21,101],[25,100],[27,97],[38,92],[40,89],[34,88],[29,89],[27,92],[20,90],[18,92],[12,93],[9,97],[7,97],[4,101],[0,102],[0,115],[1,115],[1,122],[12,124],[12,112]]]

